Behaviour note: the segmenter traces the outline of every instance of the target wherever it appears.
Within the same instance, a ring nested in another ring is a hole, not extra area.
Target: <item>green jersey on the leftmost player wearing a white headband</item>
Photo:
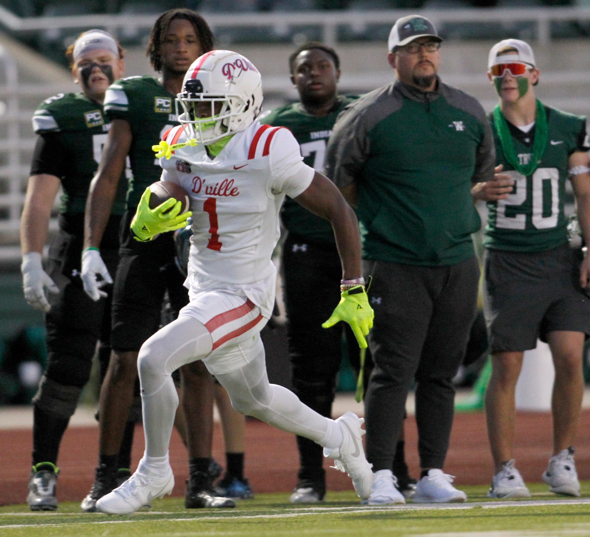
[[[36,157],[31,174],[50,173],[61,180],[62,214],[83,213],[90,181],[100,163],[110,123],[103,106],[83,93],[58,93],[45,99],[32,117],[33,130],[40,135],[43,158]],[[126,181],[119,181],[119,189],[112,214],[125,210]]]

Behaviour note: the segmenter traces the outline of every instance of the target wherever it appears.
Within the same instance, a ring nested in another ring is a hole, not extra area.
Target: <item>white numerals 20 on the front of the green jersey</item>
[[[500,199],[496,209],[496,227],[508,230],[524,230],[526,228],[526,214],[506,216],[506,207],[518,207],[526,201],[527,188],[526,176],[517,171],[505,172],[514,180],[514,193],[506,199]],[[549,181],[550,189],[546,182]],[[559,171],[557,168],[537,168],[532,175],[532,224],[537,230],[546,230],[556,227],[559,218]],[[544,188],[545,187],[545,188]],[[551,197],[551,214],[543,216],[543,194]],[[518,209],[516,209],[518,211]]]

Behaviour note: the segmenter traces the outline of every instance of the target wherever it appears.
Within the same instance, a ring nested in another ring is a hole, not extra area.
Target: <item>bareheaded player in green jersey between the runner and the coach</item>
[[[290,55],[289,69],[300,102],[263,114],[260,122],[289,128],[299,142],[303,162],[322,171],[327,140],[336,118],[357,97],[337,94],[340,60],[336,51],[326,45],[301,45]],[[289,232],[283,244],[281,267],[293,391],[310,408],[331,417],[336,375],[342,360],[343,328],[337,325],[326,330],[321,325],[340,300],[338,290],[330,284],[342,272],[334,233],[327,220],[289,197],[283,203],[281,221]],[[353,368],[359,369],[358,344],[350,329],[346,329],[346,338],[350,361]],[[371,371],[370,361],[368,355],[365,376]],[[411,494],[415,480],[408,475],[403,446],[402,439],[394,469],[400,489]],[[322,501],[326,494],[322,447],[301,436],[297,436],[297,447],[301,466],[291,502]]]

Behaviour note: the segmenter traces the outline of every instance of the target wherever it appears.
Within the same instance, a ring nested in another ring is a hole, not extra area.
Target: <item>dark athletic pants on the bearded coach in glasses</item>
[[[451,379],[465,355],[476,317],[475,257],[443,267],[365,261],[375,310],[369,348],[375,366],[365,398],[367,459],[391,470],[405,402],[416,381],[418,453],[422,468],[444,465],[453,424]]]

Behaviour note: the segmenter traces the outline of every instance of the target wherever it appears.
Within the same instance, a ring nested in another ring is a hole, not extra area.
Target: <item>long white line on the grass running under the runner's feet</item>
[[[293,518],[297,516],[308,515],[334,515],[337,513],[378,513],[391,511],[422,511],[422,510],[457,510],[457,509],[473,509],[473,507],[483,507],[483,509],[498,509],[502,507],[538,507],[547,505],[581,505],[590,504],[590,498],[579,498],[571,500],[525,500],[522,502],[473,502],[473,503],[454,503],[454,504],[436,504],[436,503],[422,503],[409,505],[391,505],[382,507],[372,506],[355,506],[355,507],[307,507],[303,509],[285,509],[287,512],[276,513],[271,515],[219,515],[219,516],[198,516],[194,518],[166,518],[162,519],[166,522],[191,522],[193,520],[248,520],[248,519],[272,519],[272,518]],[[276,509],[280,510],[280,509]],[[28,513],[0,513],[0,520],[4,516],[21,516]],[[37,513],[35,513],[37,514]],[[59,515],[83,515],[84,513],[55,513]],[[139,515],[166,515],[172,513],[166,512],[146,512],[139,513]],[[89,518],[94,513],[88,513]],[[47,516],[52,516],[47,513]],[[47,524],[7,524],[0,528],[38,528],[41,526],[63,526],[63,525],[78,525],[78,524],[126,524],[130,522],[154,522],[154,520],[87,520],[84,522],[66,522],[66,523],[47,523]],[[484,534],[482,534],[484,535]]]

